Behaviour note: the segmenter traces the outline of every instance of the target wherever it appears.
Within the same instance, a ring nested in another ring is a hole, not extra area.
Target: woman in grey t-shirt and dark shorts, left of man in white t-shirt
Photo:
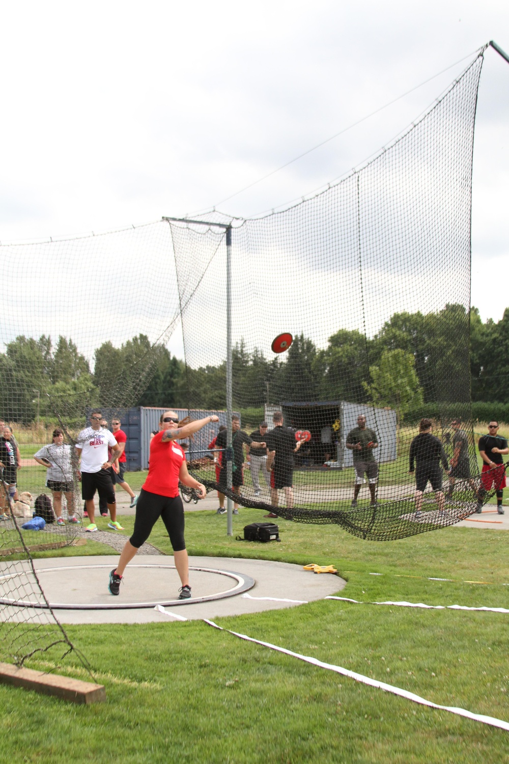
[[[56,525],[65,525],[62,517],[62,494],[67,502],[67,521],[77,525],[79,520],[75,514],[72,448],[63,442],[63,431],[60,427],[53,430],[53,442],[43,445],[34,454],[34,459],[47,468],[46,485],[53,494]]]

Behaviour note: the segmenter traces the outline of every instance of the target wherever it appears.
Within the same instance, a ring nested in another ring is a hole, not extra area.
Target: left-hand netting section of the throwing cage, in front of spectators
[[[2,269],[0,417],[11,426],[19,454],[14,443],[15,473],[4,470],[0,485],[0,660],[21,664],[30,658],[46,665],[49,655],[58,662],[72,645],[44,594],[33,552],[85,538],[76,437],[92,407],[103,410],[110,427],[115,416],[125,421],[126,410],[169,356],[166,342],[179,321],[179,298],[171,235],[163,223],[72,241],[5,245]],[[53,448],[56,427],[70,447],[70,472]],[[34,461],[44,445],[62,471],[53,480],[70,482],[61,496],[64,524],[53,516],[40,531],[27,530],[22,526],[38,495],[47,494],[57,509],[47,468]],[[18,501],[8,496],[14,482]],[[97,514],[97,500],[95,509]],[[69,523],[71,516],[81,522]],[[69,571],[61,575],[64,582]]]

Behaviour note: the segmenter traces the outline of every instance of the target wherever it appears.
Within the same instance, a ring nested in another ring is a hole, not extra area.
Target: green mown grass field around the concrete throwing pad
[[[256,510],[241,509],[234,536],[260,519]],[[133,520],[121,518],[126,536]],[[348,581],[342,596],[365,602],[509,607],[504,532],[451,528],[375,544],[333,526],[281,521],[280,534],[280,544],[248,545],[226,536],[224,518],[186,516],[192,555],[333,563]],[[171,553],[161,523],[150,542]],[[100,553],[101,545],[89,542],[79,554],[85,549]],[[318,601],[220,623],[431,701],[509,720],[507,615]],[[105,684],[108,701],[76,707],[0,686],[5,762],[507,761],[509,733],[359,685],[202,622],[66,630]],[[83,676],[75,657],[65,665],[69,675]]]

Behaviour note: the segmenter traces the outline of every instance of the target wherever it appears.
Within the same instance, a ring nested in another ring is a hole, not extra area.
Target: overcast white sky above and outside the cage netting
[[[4,3],[1,18],[2,244],[283,206],[390,141],[482,44],[509,51],[507,0],[48,0]],[[509,64],[488,49],[472,215],[483,319],[509,305],[507,125]]]

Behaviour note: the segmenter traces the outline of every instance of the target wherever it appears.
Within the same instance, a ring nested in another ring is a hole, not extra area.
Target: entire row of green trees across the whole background
[[[437,313],[396,313],[373,338],[339,329],[326,348],[304,335],[295,337],[284,357],[266,358],[244,342],[233,353],[234,406],[246,409],[285,400],[350,400],[391,406],[404,417],[433,402],[473,400],[509,403],[509,309],[499,322],[483,323],[478,310],[447,305]],[[50,416],[50,400],[107,405],[129,372],[150,369],[143,385],[126,386],[126,406],[226,405],[226,367],[188,368],[162,345],[138,335],[115,348],[95,351],[94,370],[72,339],[38,340],[20,336],[0,354],[0,413],[31,421]],[[470,377],[466,373],[470,363]],[[507,366],[507,368],[506,368]]]

